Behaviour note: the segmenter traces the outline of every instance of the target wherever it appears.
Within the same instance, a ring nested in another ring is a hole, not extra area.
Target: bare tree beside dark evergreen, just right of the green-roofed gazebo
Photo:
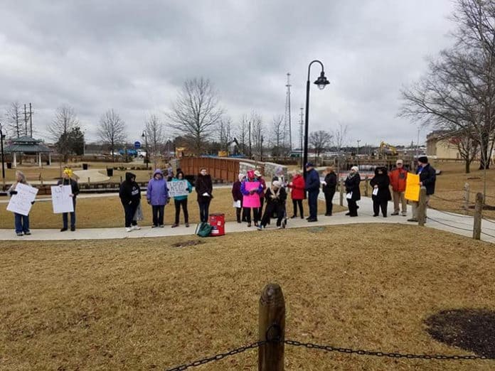
[[[51,124],[48,125],[50,137],[55,142],[58,153],[63,155],[65,162],[67,162],[73,148],[73,136],[70,133],[78,127],[78,116],[75,114],[73,107],[70,107],[68,104],[58,107],[55,117]]]

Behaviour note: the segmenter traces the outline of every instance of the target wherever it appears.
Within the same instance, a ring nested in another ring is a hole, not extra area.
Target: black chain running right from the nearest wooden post
[[[326,352],[339,352],[358,355],[374,355],[376,357],[390,357],[390,358],[408,358],[408,359],[420,359],[420,360],[491,360],[494,358],[486,357],[486,355],[428,355],[428,354],[407,354],[407,353],[387,353],[387,352],[375,352],[373,350],[362,349],[350,349],[350,348],[336,348],[331,345],[319,345],[313,343],[301,343],[297,340],[284,340],[287,345],[294,345],[297,347],[306,347],[310,349],[325,350]]]

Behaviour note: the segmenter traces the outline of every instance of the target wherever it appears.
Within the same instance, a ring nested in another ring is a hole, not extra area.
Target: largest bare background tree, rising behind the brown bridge
[[[169,126],[188,139],[191,150],[200,154],[208,134],[220,121],[223,109],[218,107],[218,93],[210,80],[186,80],[171,112]]]

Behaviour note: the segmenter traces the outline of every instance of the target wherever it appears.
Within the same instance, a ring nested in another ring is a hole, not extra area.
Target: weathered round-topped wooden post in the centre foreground
[[[267,284],[260,297],[258,339],[277,340],[258,348],[258,371],[284,370],[285,301],[278,284]]]

